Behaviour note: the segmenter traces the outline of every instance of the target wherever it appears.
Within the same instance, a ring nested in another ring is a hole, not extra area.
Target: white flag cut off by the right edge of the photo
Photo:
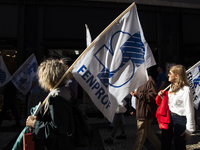
[[[187,71],[187,78],[193,93],[194,107],[198,109],[200,103],[200,62]]]

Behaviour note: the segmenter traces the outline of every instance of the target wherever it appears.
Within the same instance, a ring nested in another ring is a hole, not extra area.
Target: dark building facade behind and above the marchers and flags
[[[14,72],[32,53],[76,59],[132,0],[0,0],[0,55]],[[146,41],[158,64],[199,61],[198,0],[135,0]],[[75,50],[79,54],[75,54]],[[156,72],[156,70],[155,70]],[[12,73],[11,73],[12,75]]]

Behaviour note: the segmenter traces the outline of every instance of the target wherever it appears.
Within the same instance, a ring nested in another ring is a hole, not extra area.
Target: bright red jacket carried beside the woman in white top
[[[156,104],[159,106],[156,111],[156,118],[160,129],[168,129],[170,123],[169,106],[168,106],[168,91],[164,91],[163,99],[159,95],[156,97]]]

